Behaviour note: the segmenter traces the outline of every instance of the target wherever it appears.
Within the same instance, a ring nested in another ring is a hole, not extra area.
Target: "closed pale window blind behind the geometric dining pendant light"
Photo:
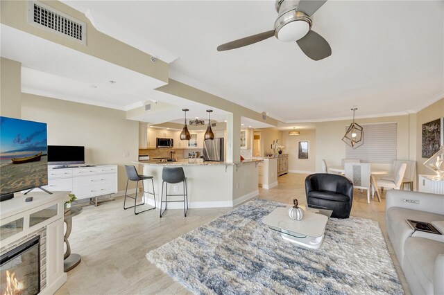
[[[368,163],[391,163],[397,156],[397,123],[361,124],[364,128],[364,144],[353,150],[345,148],[345,158],[361,159]],[[345,130],[348,126],[345,127]]]

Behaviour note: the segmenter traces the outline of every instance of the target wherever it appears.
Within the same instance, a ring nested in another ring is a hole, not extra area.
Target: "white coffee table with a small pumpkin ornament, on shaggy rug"
[[[325,224],[332,215],[331,210],[313,209],[300,206],[305,209],[302,220],[291,220],[289,208],[275,208],[273,212],[262,219],[270,229],[280,232],[284,240],[300,244],[311,249],[318,249],[324,240]]]

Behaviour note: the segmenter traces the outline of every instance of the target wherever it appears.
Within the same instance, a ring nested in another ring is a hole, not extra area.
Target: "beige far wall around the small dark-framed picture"
[[[289,154],[289,172],[316,171],[316,129],[298,130],[300,135],[290,136],[289,132],[282,131],[282,143],[285,146],[284,154]],[[308,159],[298,159],[298,141],[309,141]]]

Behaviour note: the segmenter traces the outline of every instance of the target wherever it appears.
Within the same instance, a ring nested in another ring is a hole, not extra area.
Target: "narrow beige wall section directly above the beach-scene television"
[[[22,64],[1,57],[0,81],[1,116],[21,118]]]

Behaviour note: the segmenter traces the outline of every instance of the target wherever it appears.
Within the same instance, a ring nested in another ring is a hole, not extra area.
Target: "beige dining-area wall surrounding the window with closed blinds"
[[[365,118],[357,119],[359,124],[366,123],[398,123],[398,159],[411,159],[410,137],[413,134],[411,131],[411,117],[405,116],[388,116],[379,118]],[[345,126],[350,124],[350,120],[339,120],[331,122],[316,123],[316,172],[321,172],[321,159],[327,161],[327,166],[340,166],[341,159],[345,158],[345,143],[341,140],[345,133]],[[365,128],[365,126],[364,126]],[[413,148],[413,147],[412,147]],[[414,159],[412,159],[414,160]],[[384,168],[390,168],[387,164],[379,165]]]

